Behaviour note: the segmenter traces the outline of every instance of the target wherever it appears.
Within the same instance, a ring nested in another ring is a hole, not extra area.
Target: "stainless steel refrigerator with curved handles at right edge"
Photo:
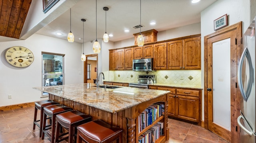
[[[238,65],[240,97],[240,143],[255,143],[255,19],[242,36],[242,56]]]

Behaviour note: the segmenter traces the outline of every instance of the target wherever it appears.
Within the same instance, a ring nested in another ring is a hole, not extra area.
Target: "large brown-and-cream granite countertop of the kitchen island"
[[[170,92],[123,86],[104,90],[97,89],[95,84],[90,83],[33,88],[111,113],[120,112]]]

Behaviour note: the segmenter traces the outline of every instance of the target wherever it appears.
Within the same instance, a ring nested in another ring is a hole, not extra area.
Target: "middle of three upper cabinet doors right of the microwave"
[[[167,43],[167,69],[182,69],[183,40]]]

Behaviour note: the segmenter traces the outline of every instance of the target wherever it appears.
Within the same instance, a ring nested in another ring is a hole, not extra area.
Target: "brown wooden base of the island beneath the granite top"
[[[72,101],[67,98],[59,97],[53,94],[49,94],[49,98],[60,104],[73,108],[73,110],[78,110],[85,114],[91,115],[92,119],[101,119],[110,125],[115,125],[123,129],[123,143],[138,143],[138,116],[141,114],[143,110],[145,110],[151,104],[156,102],[162,102],[165,105],[165,109],[168,109],[168,94],[164,94],[147,102],[142,102],[136,106],[128,108],[126,110],[111,113],[104,110],[100,110],[98,108],[94,108],[92,106],[87,106],[85,104]],[[169,139],[169,128],[168,128],[168,116],[167,110],[165,110],[165,114],[163,115],[164,122],[164,136],[161,136],[158,139],[157,143],[164,143]]]

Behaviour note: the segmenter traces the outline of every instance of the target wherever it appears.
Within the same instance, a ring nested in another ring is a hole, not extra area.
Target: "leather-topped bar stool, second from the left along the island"
[[[56,115],[64,112],[71,111],[72,108],[64,106],[62,104],[56,104],[47,106],[44,108],[44,119],[43,119],[43,127],[42,127],[42,139],[44,139],[44,134],[46,134],[51,139],[51,143],[54,143],[54,131],[55,131],[55,123],[56,123]],[[49,116],[52,118],[51,127],[46,128],[46,117]],[[52,132],[48,131],[52,129]]]

